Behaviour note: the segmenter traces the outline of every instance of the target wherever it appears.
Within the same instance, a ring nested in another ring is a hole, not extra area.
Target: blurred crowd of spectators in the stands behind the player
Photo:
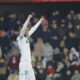
[[[39,20],[35,12],[32,14],[29,28]],[[43,17],[44,23],[29,38],[36,80],[80,80],[80,13],[70,10],[63,17],[56,10],[48,19]],[[16,13],[0,16],[0,80],[18,80],[20,52],[16,38],[25,19],[19,19]]]

